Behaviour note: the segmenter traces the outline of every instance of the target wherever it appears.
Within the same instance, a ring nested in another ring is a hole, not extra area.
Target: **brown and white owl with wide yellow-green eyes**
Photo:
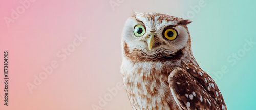
[[[227,109],[191,52],[189,23],[136,11],[126,20],[121,73],[133,109]]]

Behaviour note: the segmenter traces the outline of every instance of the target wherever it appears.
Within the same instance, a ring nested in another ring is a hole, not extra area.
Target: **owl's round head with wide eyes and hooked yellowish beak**
[[[133,12],[124,24],[124,57],[137,61],[175,60],[191,50],[189,20],[159,13]]]

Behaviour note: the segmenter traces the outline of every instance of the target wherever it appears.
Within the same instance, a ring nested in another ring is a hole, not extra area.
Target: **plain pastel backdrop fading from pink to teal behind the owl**
[[[25,0],[20,0],[24,2]],[[122,82],[121,31],[132,9],[187,17],[193,54],[201,68],[215,77],[228,109],[255,109],[256,42],[254,1],[34,1],[6,24],[19,0],[0,3],[0,109],[132,109],[124,89],[99,105]],[[28,5],[28,4],[27,4]],[[19,8],[18,8],[19,9]],[[194,14],[191,14],[191,13]],[[61,61],[58,52],[76,38],[87,37]],[[4,106],[4,51],[9,51],[9,103]],[[243,53],[244,52],[244,53]],[[239,58],[232,54],[240,53]],[[230,58],[232,60],[228,61]],[[30,93],[27,83],[57,61],[59,67]],[[234,62],[236,61],[236,62]],[[225,73],[214,74],[227,67]],[[217,75],[217,76],[216,76]],[[219,77],[219,78],[217,78]]]

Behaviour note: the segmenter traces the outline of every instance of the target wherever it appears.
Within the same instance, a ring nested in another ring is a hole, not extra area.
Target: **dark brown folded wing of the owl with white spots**
[[[189,72],[175,68],[169,75],[169,87],[180,109],[225,109]]]

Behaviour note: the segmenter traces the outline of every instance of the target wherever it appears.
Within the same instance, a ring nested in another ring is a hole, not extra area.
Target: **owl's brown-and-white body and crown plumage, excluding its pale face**
[[[129,47],[130,43],[128,45],[127,42],[122,40],[123,62],[121,73],[124,87],[133,109],[190,109],[190,106],[191,108],[200,106],[200,108],[221,109],[224,107],[224,109],[227,109],[222,94],[214,80],[199,67],[192,55],[191,39],[186,26],[191,22],[165,14],[133,12],[132,17],[135,18],[135,21],[138,14],[153,24],[164,23],[163,21],[176,21],[177,24],[172,27],[182,26],[186,29],[188,35],[185,46],[182,46],[183,48],[172,51],[159,48],[151,53],[131,48]],[[151,30],[156,31],[156,29]],[[160,42],[158,37],[160,36],[155,38],[157,42],[155,42],[153,48],[166,45],[166,43]],[[144,43],[147,42],[144,41]],[[172,75],[171,73],[174,75],[173,78],[169,77]],[[182,86],[179,86],[177,82],[182,83]],[[172,90],[174,91],[172,94],[171,89],[176,89],[177,91]],[[197,95],[194,96],[195,102],[191,102],[194,105],[188,106],[188,97],[183,93],[192,92],[190,90],[197,91]],[[199,94],[203,95],[204,92],[205,95],[202,97],[207,98],[209,102],[203,99],[202,103],[212,103],[212,105],[216,103],[216,106],[205,105],[200,102],[201,97],[199,97]],[[176,99],[179,103],[176,103]]]

